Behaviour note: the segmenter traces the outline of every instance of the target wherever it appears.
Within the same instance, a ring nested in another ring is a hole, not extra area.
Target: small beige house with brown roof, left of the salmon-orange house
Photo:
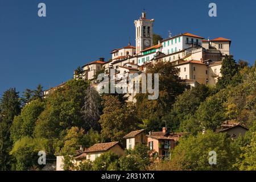
[[[146,130],[136,130],[131,131],[129,134],[125,135],[123,137],[126,139],[126,148],[127,149],[134,149],[134,147],[139,144],[146,144],[147,138],[146,138]]]

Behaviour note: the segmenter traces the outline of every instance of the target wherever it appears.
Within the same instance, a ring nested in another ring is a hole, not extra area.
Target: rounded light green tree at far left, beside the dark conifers
[[[10,128],[10,138],[13,142],[26,136],[33,136],[36,121],[43,110],[44,102],[40,100],[31,101],[23,107],[20,115],[14,118],[13,125]]]

